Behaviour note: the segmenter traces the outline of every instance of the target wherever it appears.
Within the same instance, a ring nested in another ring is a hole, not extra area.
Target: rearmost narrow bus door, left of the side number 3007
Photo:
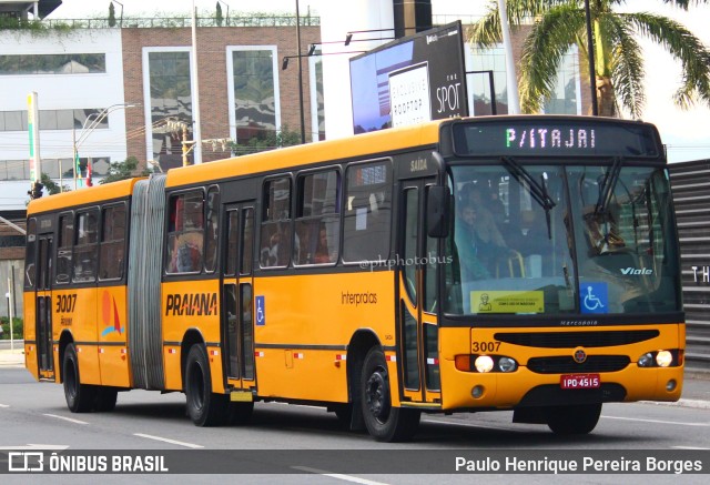
[[[54,380],[52,345],[52,236],[37,238],[36,336],[39,378]]]

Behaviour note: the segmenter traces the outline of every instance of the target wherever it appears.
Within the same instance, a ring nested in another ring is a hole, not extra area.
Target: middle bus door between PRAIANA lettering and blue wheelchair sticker
[[[225,348],[227,386],[233,400],[256,386],[254,367],[253,261],[254,202],[226,206],[223,232],[225,257],[222,259],[222,335]],[[251,397],[244,394],[245,401]]]

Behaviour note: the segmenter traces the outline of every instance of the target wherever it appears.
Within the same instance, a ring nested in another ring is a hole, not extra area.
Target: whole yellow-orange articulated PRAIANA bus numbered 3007
[[[27,368],[72,412],[144,388],[200,426],[278,401],[379,441],[496,410],[589,433],[681,394],[666,163],[650,124],[493,117],[34,200]]]

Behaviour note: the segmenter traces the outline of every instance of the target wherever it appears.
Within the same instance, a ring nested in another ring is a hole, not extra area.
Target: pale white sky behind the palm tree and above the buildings
[[[246,2],[240,0],[221,1],[222,11],[226,14],[240,12],[277,12],[286,13],[295,11],[297,0],[258,0],[258,8],[244,7]],[[302,14],[312,10],[317,11],[322,1],[342,0],[300,0]],[[357,1],[357,0],[352,0]],[[50,19],[61,18],[90,18],[93,14],[108,12],[110,0],[63,0]],[[153,17],[159,12],[184,12],[187,14],[193,0],[123,0],[124,17]],[[699,37],[706,46],[710,47],[710,1],[709,4],[691,7],[689,12],[666,6],[661,0],[627,0],[620,8],[623,11],[650,11],[678,20],[691,32]],[[213,11],[216,0],[194,0],[199,10]],[[247,3],[248,4],[248,3]],[[488,0],[432,0],[434,14],[462,14],[475,16],[485,12]],[[115,2],[115,14],[119,17],[121,7]],[[643,121],[655,123],[663,142],[668,145],[668,155],[671,162],[684,160],[710,159],[710,108],[697,105],[693,109],[682,111],[672,102],[672,94],[681,82],[680,67],[662,48],[650,42],[640,42],[645,49],[646,59],[646,94],[647,103],[643,110]]]

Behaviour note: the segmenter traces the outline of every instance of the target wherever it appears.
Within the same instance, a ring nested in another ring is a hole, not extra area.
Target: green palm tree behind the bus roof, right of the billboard
[[[639,37],[659,43],[682,65],[682,85],[674,102],[688,108],[696,101],[710,105],[710,51],[680,23],[648,12],[619,13],[612,8],[626,0],[589,0],[595,36],[597,102],[600,115],[618,117],[619,103],[632,118],[640,118],[643,93],[643,57]],[[683,10],[708,0],[660,0]],[[495,3],[495,2],[494,2]],[[511,26],[530,23],[519,63],[519,92],[523,112],[538,112],[555,88],[562,57],[574,44],[588,58],[584,0],[508,0]],[[498,9],[474,26],[470,41],[480,48],[499,43]],[[589,65],[588,62],[585,65]]]

